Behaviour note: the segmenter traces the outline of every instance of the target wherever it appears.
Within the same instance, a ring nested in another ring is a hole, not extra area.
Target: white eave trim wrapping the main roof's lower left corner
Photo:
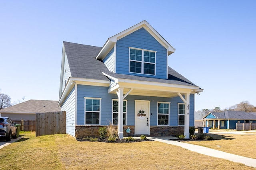
[[[74,83],[73,83],[74,82]],[[90,86],[104,86],[108,87],[110,85],[110,81],[106,80],[94,80],[94,79],[86,79],[86,78],[74,78],[70,77],[68,78],[68,83],[64,88],[64,91],[62,92],[62,95],[59,99],[58,106],[61,106],[74,85],[81,84],[81,85],[90,85]]]

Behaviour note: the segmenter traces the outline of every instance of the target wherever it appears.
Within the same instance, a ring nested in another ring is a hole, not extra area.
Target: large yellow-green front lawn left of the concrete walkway
[[[254,169],[156,141],[136,143],[79,142],[66,134],[24,137],[0,149],[1,170],[52,169]]]

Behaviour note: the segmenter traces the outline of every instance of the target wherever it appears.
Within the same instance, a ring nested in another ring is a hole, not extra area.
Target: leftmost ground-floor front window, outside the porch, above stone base
[[[100,125],[100,100],[100,98],[84,98],[86,125]]]

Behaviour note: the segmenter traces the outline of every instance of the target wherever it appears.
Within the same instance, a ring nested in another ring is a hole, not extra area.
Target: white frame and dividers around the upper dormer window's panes
[[[141,50],[141,61],[131,60],[131,59],[130,59],[130,49]],[[144,51],[149,51],[149,52],[155,53],[155,63],[144,62]],[[141,73],[138,73],[138,72],[130,72],[130,61],[135,61],[135,62],[140,62],[140,63],[141,63]],[[155,70],[154,70],[154,74],[144,74],[144,63],[154,64],[154,66],[155,66],[155,68],[154,68],[154,69],[155,69]],[[156,75],[156,51],[147,50],[147,49],[139,49],[139,48],[134,48],[134,47],[129,47],[129,73],[144,74],[144,75],[155,76],[155,75]]]

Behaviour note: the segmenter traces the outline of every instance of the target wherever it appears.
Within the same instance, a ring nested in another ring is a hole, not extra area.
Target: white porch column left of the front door
[[[124,88],[120,87],[118,89],[118,137],[119,139],[124,138],[124,132],[123,132],[123,105],[124,105]]]

